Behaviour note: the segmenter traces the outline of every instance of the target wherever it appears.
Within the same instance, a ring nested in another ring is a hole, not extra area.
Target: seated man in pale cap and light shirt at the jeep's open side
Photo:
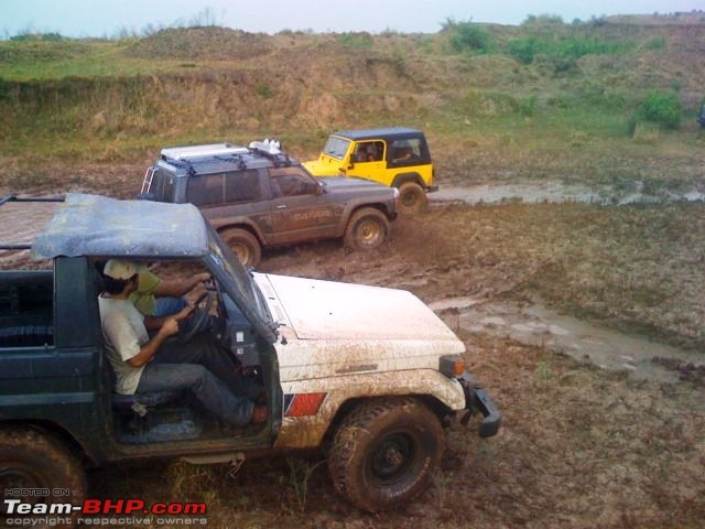
[[[108,359],[117,376],[116,392],[187,389],[228,424],[263,422],[267,407],[253,402],[261,388],[239,375],[236,361],[209,334],[196,335],[185,344],[167,341],[192,306],[167,317],[149,337],[144,316],[129,301],[139,273],[138,263],[120,259],[110,259],[104,270],[105,291],[98,302]]]

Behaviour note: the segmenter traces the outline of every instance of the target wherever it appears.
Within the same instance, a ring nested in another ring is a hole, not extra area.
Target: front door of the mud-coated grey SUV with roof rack
[[[284,245],[336,236],[343,204],[334,203],[301,166],[271,168],[272,244]]]

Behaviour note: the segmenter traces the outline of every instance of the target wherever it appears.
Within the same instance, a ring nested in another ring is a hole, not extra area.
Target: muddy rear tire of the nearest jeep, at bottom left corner
[[[47,494],[8,495],[8,489],[45,489]],[[10,428],[0,431],[0,490],[6,495],[3,499],[19,499],[25,504],[83,505],[86,496],[86,473],[79,461],[53,436],[32,428]],[[8,515],[6,504],[0,505],[2,527],[8,527],[8,518],[18,517],[26,518],[28,515]],[[40,515],[36,518],[47,516]],[[53,520],[55,517],[48,518]]]

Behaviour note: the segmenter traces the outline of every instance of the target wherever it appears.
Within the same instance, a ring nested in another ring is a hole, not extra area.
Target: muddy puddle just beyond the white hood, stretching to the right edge
[[[628,335],[550,311],[540,304],[519,306],[473,298],[431,303],[456,331],[486,333],[527,345],[546,347],[603,369],[626,370],[640,379],[676,382],[676,365],[705,368],[705,356],[647,336]]]

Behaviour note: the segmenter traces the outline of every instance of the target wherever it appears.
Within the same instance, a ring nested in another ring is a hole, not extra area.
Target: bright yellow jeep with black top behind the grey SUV
[[[433,165],[426,138],[420,130],[345,130],[328,138],[318,160],[305,162],[314,176],[359,176],[399,190],[397,208],[417,212],[433,185]]]

